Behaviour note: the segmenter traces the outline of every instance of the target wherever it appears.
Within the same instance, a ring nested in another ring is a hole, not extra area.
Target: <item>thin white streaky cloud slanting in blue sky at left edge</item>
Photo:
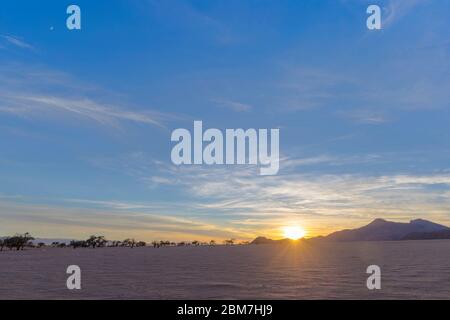
[[[106,96],[101,89],[79,84],[61,72],[36,70],[23,65],[3,66],[2,71],[2,113],[37,118],[76,116],[113,127],[125,122],[163,127],[163,119],[170,118],[170,115],[160,112],[137,111],[108,102],[111,94]]]

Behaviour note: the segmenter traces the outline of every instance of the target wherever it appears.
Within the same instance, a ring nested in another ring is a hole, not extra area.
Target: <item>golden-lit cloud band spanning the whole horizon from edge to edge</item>
[[[126,170],[156,187],[169,185],[176,200],[66,199],[60,200],[60,205],[43,206],[5,197],[0,199],[0,221],[7,222],[3,225],[10,229],[45,230],[58,237],[64,231],[144,240],[276,236],[276,230],[293,222],[301,223],[311,236],[363,225],[377,217],[399,221],[420,217],[450,223],[448,172],[369,175],[298,171],[299,166],[315,164],[377,162],[378,155],[286,158],[278,176],[266,177],[257,175],[253,166],[173,166],[145,158],[143,154],[124,157],[112,162],[111,169]]]

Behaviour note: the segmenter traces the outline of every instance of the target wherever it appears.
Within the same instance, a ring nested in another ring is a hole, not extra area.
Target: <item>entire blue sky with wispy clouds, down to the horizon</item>
[[[68,30],[66,9],[81,9]],[[368,30],[366,9],[382,9]],[[0,235],[250,240],[450,225],[450,3],[3,1]],[[279,128],[280,170],[175,166],[176,128]]]

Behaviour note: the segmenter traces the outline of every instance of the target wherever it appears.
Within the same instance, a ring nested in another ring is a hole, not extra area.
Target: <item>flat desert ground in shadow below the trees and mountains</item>
[[[449,240],[27,249],[0,252],[0,299],[448,299],[449,265]]]

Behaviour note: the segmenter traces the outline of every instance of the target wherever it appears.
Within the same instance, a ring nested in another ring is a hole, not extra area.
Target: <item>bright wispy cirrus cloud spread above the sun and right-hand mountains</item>
[[[326,234],[378,217],[450,222],[448,172],[367,174],[343,169],[376,167],[399,161],[399,155],[284,158],[280,174],[271,177],[258,176],[252,166],[173,166],[145,158],[144,154],[122,158],[114,162],[114,170],[126,170],[141,183],[183,195],[176,205],[163,205],[165,209],[185,216],[214,216],[245,234],[271,234],[289,221],[300,221],[311,228],[310,234]],[[317,165],[320,170],[309,170]],[[326,173],[324,168],[337,170]]]

